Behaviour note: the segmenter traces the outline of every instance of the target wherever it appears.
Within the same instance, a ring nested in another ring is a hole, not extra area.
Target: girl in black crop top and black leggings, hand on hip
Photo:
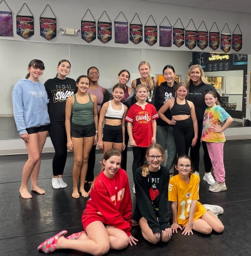
[[[196,145],[198,139],[198,123],[195,114],[195,106],[191,101],[186,100],[188,86],[180,82],[175,88],[176,96],[169,99],[159,109],[159,118],[173,125],[174,142],[177,148],[177,154],[188,155],[189,148]],[[172,119],[166,118],[164,113],[170,109]]]

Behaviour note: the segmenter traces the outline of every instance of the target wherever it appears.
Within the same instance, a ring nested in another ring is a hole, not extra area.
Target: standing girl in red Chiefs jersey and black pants
[[[134,155],[132,162],[132,174],[144,165],[146,149],[152,143],[156,143],[156,119],[158,114],[156,108],[146,102],[149,90],[144,84],[136,87],[137,103],[129,109],[125,121],[130,138],[130,144]]]

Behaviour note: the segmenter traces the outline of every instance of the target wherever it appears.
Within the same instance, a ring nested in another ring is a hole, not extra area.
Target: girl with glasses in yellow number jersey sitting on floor
[[[193,235],[193,231],[210,234],[212,230],[221,233],[224,230],[222,221],[216,216],[223,213],[220,206],[201,204],[199,199],[200,177],[192,174],[193,162],[188,155],[179,155],[174,164],[178,175],[169,181],[168,200],[171,201],[173,214],[173,233],[178,228],[183,230],[182,235]]]

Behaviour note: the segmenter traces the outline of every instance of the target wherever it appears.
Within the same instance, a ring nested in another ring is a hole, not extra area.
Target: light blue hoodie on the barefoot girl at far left
[[[49,125],[47,111],[48,96],[45,86],[29,79],[20,80],[13,88],[13,113],[19,135],[27,133],[26,128]]]

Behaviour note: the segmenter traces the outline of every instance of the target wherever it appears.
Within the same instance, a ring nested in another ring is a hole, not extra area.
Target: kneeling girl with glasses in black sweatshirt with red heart
[[[161,165],[164,150],[152,144],[146,150],[147,164],[136,170],[134,183],[136,209],[134,220],[141,227],[142,236],[150,243],[168,242],[172,235],[168,218],[169,170]]]

